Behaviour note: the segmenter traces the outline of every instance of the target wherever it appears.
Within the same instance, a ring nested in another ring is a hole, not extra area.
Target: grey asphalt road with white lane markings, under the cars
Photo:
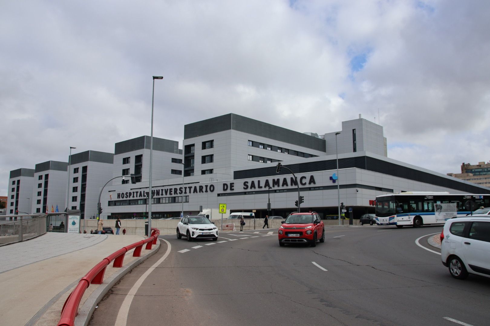
[[[455,280],[440,255],[416,244],[441,226],[325,230],[315,248],[280,247],[277,229],[221,233],[218,242],[160,237],[168,242],[113,287],[90,325],[490,324],[490,279]],[[420,244],[438,251],[427,237]]]

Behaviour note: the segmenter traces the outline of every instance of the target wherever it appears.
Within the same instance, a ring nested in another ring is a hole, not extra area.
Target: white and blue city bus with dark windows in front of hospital
[[[376,224],[420,227],[444,224],[453,217],[490,207],[490,195],[453,195],[447,192],[405,192],[376,197]]]

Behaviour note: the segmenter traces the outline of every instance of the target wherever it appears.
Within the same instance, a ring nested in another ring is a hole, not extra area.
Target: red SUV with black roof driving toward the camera
[[[278,237],[281,247],[286,243],[309,243],[315,247],[317,241],[325,242],[325,227],[317,212],[291,213],[282,221]]]

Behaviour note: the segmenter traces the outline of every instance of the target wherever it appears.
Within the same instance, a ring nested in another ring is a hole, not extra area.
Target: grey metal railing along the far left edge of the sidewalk
[[[36,238],[46,233],[46,216],[0,221],[0,246]]]

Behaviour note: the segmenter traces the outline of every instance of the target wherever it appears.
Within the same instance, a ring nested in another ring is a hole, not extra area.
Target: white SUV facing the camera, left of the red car
[[[204,216],[184,216],[177,224],[177,239],[187,237],[192,239],[218,240],[218,228]]]

